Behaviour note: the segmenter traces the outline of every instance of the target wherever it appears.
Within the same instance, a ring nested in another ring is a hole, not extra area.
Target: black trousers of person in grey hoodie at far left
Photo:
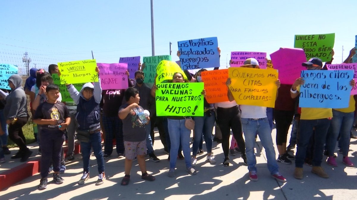
[[[26,138],[22,132],[22,127],[27,123],[27,117],[19,117],[14,124],[9,125],[9,138],[19,146],[20,151],[26,151]]]

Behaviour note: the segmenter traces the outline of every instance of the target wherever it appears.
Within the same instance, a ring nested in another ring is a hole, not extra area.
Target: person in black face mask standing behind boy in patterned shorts
[[[135,80],[136,84],[134,88],[139,91],[140,102],[139,105],[143,107],[145,110],[149,110],[150,119],[155,115],[155,99],[151,96],[151,88],[147,86],[144,82],[144,72],[142,70],[137,70],[135,72]],[[151,123],[145,126],[146,129],[146,148],[147,153],[150,156],[150,160],[154,162],[160,162],[160,159],[155,156],[154,148],[152,145],[154,144],[154,134],[151,136]]]

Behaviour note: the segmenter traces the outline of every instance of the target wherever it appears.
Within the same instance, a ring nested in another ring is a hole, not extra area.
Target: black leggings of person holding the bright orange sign
[[[228,157],[231,128],[233,137],[236,139],[239,149],[241,150],[242,154],[245,154],[245,143],[243,139],[241,112],[239,107],[218,107],[217,122],[222,132],[222,148],[224,156],[226,158]]]

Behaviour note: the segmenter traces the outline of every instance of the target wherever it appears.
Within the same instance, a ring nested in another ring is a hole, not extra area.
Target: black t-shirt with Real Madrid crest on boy
[[[55,104],[50,104],[49,102],[45,101],[37,107],[34,115],[34,120],[36,119],[55,119],[58,121],[56,125],[39,125],[42,128],[49,129],[49,130],[58,130],[58,126],[61,123],[65,122],[65,119],[69,116],[69,111],[67,107],[62,103],[57,101]]]

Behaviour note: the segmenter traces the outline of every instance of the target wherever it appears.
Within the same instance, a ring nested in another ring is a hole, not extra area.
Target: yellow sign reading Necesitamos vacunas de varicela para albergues
[[[77,60],[58,63],[63,84],[98,82],[98,73],[95,71],[97,62],[92,60]]]

